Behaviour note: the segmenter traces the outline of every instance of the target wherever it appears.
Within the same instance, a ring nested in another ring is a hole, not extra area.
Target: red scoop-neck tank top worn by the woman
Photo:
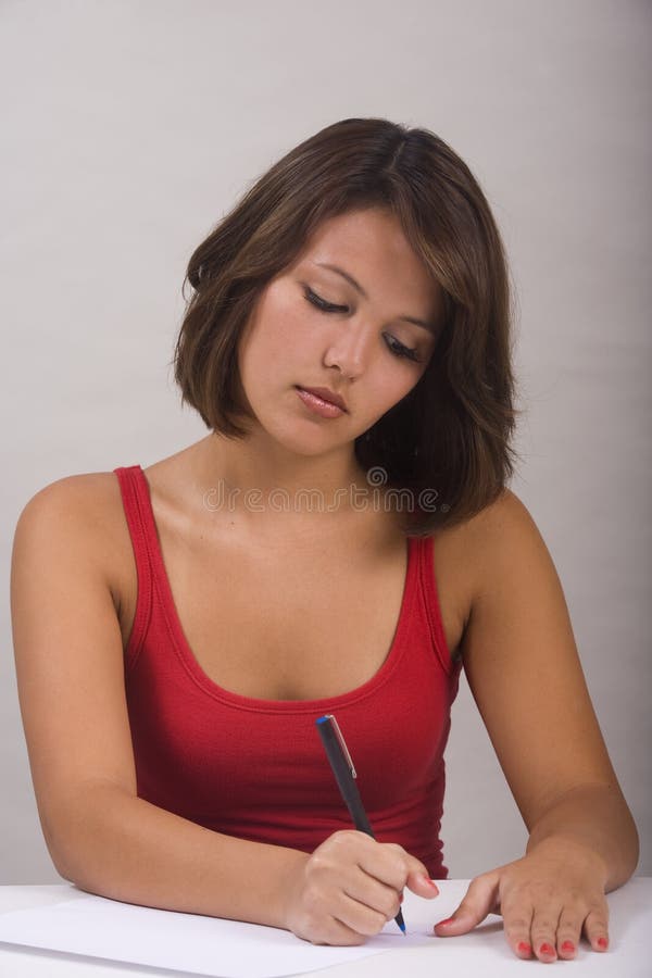
[[[312,852],[352,828],[315,727],[333,713],[378,841],[400,843],[446,879],[443,750],[461,663],[451,663],[441,625],[432,538],[406,538],[393,641],[367,682],[319,700],[252,699],[199,665],[175,609],[145,473],[114,472],[138,573],[125,651],[138,795],[217,832]]]

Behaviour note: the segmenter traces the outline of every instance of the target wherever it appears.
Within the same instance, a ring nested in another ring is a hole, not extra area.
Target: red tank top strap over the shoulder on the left
[[[114,468],[125,511],[125,518],[131,538],[136,572],[138,575],[138,594],[131,634],[126,648],[126,661],[133,665],[147,634],[153,598],[153,578],[155,553],[158,549],[156,525],[149,497],[149,486],[140,465],[127,465]]]

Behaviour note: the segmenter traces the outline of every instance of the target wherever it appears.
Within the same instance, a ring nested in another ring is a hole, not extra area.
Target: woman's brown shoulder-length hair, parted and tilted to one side
[[[237,352],[258,298],[321,222],[367,206],[399,218],[443,293],[426,371],[354,446],[369,484],[385,482],[385,504],[405,514],[404,531],[427,536],[501,494],[517,457],[510,440],[519,413],[502,240],[469,168],[428,129],[346,118],[263,174],[190,258],[183,293],[186,283],[193,293],[174,377],[181,404],[209,428],[246,437]]]

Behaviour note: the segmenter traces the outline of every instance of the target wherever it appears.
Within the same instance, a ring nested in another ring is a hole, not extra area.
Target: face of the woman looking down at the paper
[[[247,324],[238,360],[249,409],[301,454],[350,446],[418,381],[440,322],[440,289],[393,215],[331,217],[269,281]],[[323,416],[299,388],[338,394],[346,411]]]

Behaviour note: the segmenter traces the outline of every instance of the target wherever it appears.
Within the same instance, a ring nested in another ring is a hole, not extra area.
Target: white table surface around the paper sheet
[[[440,895],[432,901],[432,923],[441,912],[454,908],[468,880],[438,880]],[[28,907],[46,906],[65,900],[70,886],[0,887],[0,914]],[[607,894],[610,906],[610,950],[593,952],[582,940],[578,956],[572,962],[555,962],[570,978],[649,978],[652,975],[652,877],[634,877],[619,890]],[[446,953],[442,953],[446,944]],[[478,969],[478,951],[481,968]],[[336,965],[325,970],[302,973],[312,978],[482,978],[525,975],[531,978],[535,960],[519,961],[505,941],[500,917],[492,915],[484,925],[456,938],[434,938],[432,948],[406,948],[374,954],[360,961]],[[39,951],[0,943],[0,978],[143,978],[165,976],[179,978],[181,971],[126,965],[104,958],[83,957],[61,952]],[[197,978],[197,976],[195,976]]]

